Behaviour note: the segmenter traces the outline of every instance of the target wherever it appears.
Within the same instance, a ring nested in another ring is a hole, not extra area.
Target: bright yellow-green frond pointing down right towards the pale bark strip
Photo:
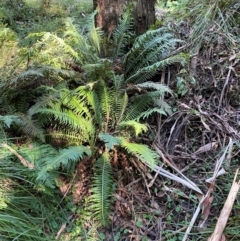
[[[143,163],[150,165],[150,167],[153,167],[159,159],[158,154],[146,145],[130,143],[126,139],[121,138],[120,146],[126,149],[128,153],[137,156]]]

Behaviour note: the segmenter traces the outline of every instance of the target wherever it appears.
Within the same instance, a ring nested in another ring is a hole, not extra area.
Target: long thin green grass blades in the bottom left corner
[[[12,174],[14,171],[20,168],[12,168]],[[69,204],[61,203],[57,192],[38,190],[21,174],[14,179],[1,175],[0,185],[0,239],[54,240],[70,214]]]

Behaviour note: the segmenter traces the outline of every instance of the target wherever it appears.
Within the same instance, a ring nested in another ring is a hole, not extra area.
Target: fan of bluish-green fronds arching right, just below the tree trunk
[[[183,56],[172,56],[177,43],[166,28],[149,30],[139,36],[124,59],[125,83],[143,83],[150,79],[157,70],[171,63],[183,62]]]

